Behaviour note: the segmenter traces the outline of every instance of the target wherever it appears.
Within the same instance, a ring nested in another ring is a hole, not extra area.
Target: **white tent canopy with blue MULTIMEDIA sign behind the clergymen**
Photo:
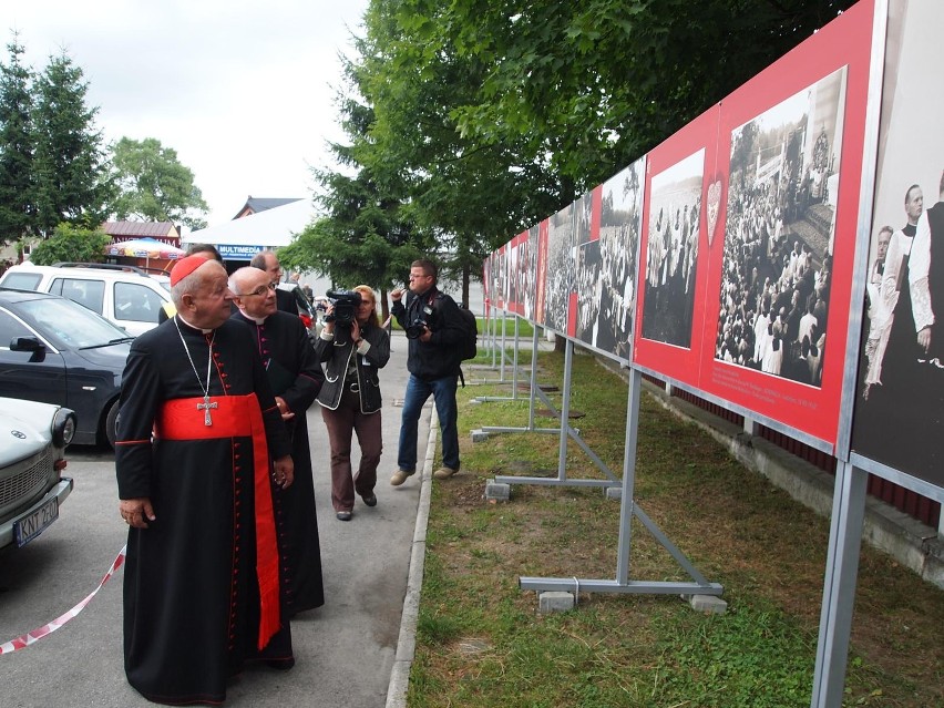
[[[298,199],[258,214],[192,232],[184,245],[212,244],[226,260],[250,260],[260,250],[288,246],[315,217],[311,199]]]

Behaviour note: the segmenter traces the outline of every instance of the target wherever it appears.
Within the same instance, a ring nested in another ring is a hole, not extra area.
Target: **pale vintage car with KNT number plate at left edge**
[[[25,545],[59,519],[72,491],[62,471],[74,433],[68,408],[0,398],[0,548]]]

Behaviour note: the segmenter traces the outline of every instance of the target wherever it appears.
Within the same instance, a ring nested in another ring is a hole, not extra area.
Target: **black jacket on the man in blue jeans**
[[[435,286],[422,295],[408,293],[407,304],[394,301],[390,308],[403,329],[422,319],[432,332],[429,341],[408,339],[407,369],[418,379],[433,381],[458,377],[462,361],[456,345],[464,336],[459,306]]]

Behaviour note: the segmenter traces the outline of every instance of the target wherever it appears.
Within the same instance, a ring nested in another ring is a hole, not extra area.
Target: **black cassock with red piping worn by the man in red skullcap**
[[[290,452],[246,327],[226,321],[204,335],[175,317],[132,343],[115,447],[119,495],[150,497],[156,520],[129,531],[125,673],[145,698],[173,705],[224,700],[227,679],[247,660],[283,666],[294,660],[287,617],[258,649],[253,438],[199,439],[207,430],[205,413],[194,407],[194,439],[152,442],[165,401],[203,398],[211,338],[209,396],[255,392],[269,455]],[[268,470],[266,478],[269,482]],[[271,529],[275,521],[258,523]]]

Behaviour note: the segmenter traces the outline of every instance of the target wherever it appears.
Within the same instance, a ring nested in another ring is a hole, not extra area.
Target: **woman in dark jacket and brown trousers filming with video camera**
[[[372,288],[359,285],[350,293],[331,295],[336,297],[328,306],[325,328],[315,340],[326,378],[316,400],[331,444],[331,505],[340,521],[350,521],[355,493],[368,506],[377,505],[373,488],[382,450],[378,370],[390,359],[390,335],[380,327]],[[352,433],[361,451],[356,476]]]

